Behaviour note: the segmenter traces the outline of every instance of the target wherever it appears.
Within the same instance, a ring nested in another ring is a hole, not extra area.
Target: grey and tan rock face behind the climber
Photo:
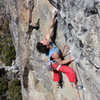
[[[55,42],[67,44],[75,58],[81,100],[100,100],[100,0],[4,0],[20,66],[23,100],[78,100],[66,76],[57,89],[47,58],[36,50],[45,36],[51,10],[59,10]]]

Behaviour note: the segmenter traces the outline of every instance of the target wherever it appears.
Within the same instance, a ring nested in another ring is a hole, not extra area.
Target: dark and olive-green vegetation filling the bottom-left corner
[[[8,81],[0,77],[0,100],[22,100],[20,80]]]

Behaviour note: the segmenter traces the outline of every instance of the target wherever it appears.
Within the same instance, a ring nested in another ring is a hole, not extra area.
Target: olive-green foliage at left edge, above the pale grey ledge
[[[0,36],[0,59],[6,66],[15,60],[16,52],[10,34]]]

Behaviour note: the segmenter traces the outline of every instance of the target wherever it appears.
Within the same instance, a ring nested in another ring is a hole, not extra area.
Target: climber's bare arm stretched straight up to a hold
[[[53,14],[52,14],[52,18],[51,18],[51,21],[50,21],[50,27],[49,27],[49,30],[46,34],[46,37],[45,39],[50,41],[51,40],[51,37],[53,36],[53,29],[54,29],[54,25],[55,25],[55,17],[57,15],[57,11],[55,11]]]

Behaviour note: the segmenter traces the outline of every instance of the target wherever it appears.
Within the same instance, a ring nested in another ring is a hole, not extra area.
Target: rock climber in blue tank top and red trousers
[[[75,71],[67,66],[66,64],[74,61],[73,59],[63,59],[60,49],[52,42],[51,38],[53,36],[54,25],[56,22],[57,10],[52,13],[50,28],[46,34],[44,40],[41,40],[37,43],[37,50],[40,53],[44,53],[48,56],[49,61],[51,62],[51,66],[53,68],[53,80],[59,84],[60,81],[60,72],[63,72],[71,82],[73,87],[76,87],[77,77]]]

